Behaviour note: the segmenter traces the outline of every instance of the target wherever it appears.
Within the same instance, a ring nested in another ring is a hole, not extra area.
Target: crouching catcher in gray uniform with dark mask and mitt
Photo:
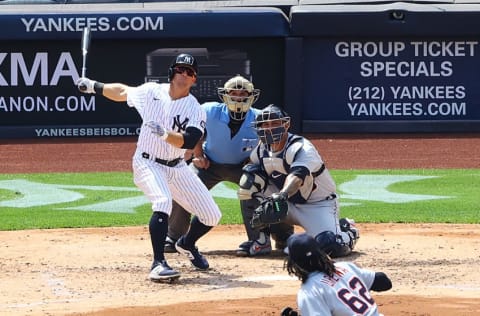
[[[353,220],[339,220],[336,185],[315,146],[288,132],[290,117],[275,105],[264,108],[253,123],[260,143],[238,190],[240,200],[262,201],[251,214],[252,227],[299,225],[330,256],[350,254],[359,231]]]

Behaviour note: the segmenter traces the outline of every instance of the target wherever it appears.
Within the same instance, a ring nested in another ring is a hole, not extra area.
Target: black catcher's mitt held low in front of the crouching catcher
[[[276,224],[287,217],[287,214],[287,195],[285,193],[272,194],[253,211],[250,226],[257,229],[269,224]]]

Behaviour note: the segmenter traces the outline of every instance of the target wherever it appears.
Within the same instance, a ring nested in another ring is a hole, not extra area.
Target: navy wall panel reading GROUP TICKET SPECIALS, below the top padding
[[[307,40],[304,48],[316,65],[304,81],[310,119],[480,120],[478,39]]]

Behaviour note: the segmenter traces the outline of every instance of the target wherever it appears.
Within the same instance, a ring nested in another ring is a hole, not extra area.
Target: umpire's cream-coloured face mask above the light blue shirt
[[[253,103],[258,100],[259,89],[254,89],[253,83],[237,75],[227,82],[223,88],[218,88],[217,94],[230,112],[230,117],[241,121]]]

